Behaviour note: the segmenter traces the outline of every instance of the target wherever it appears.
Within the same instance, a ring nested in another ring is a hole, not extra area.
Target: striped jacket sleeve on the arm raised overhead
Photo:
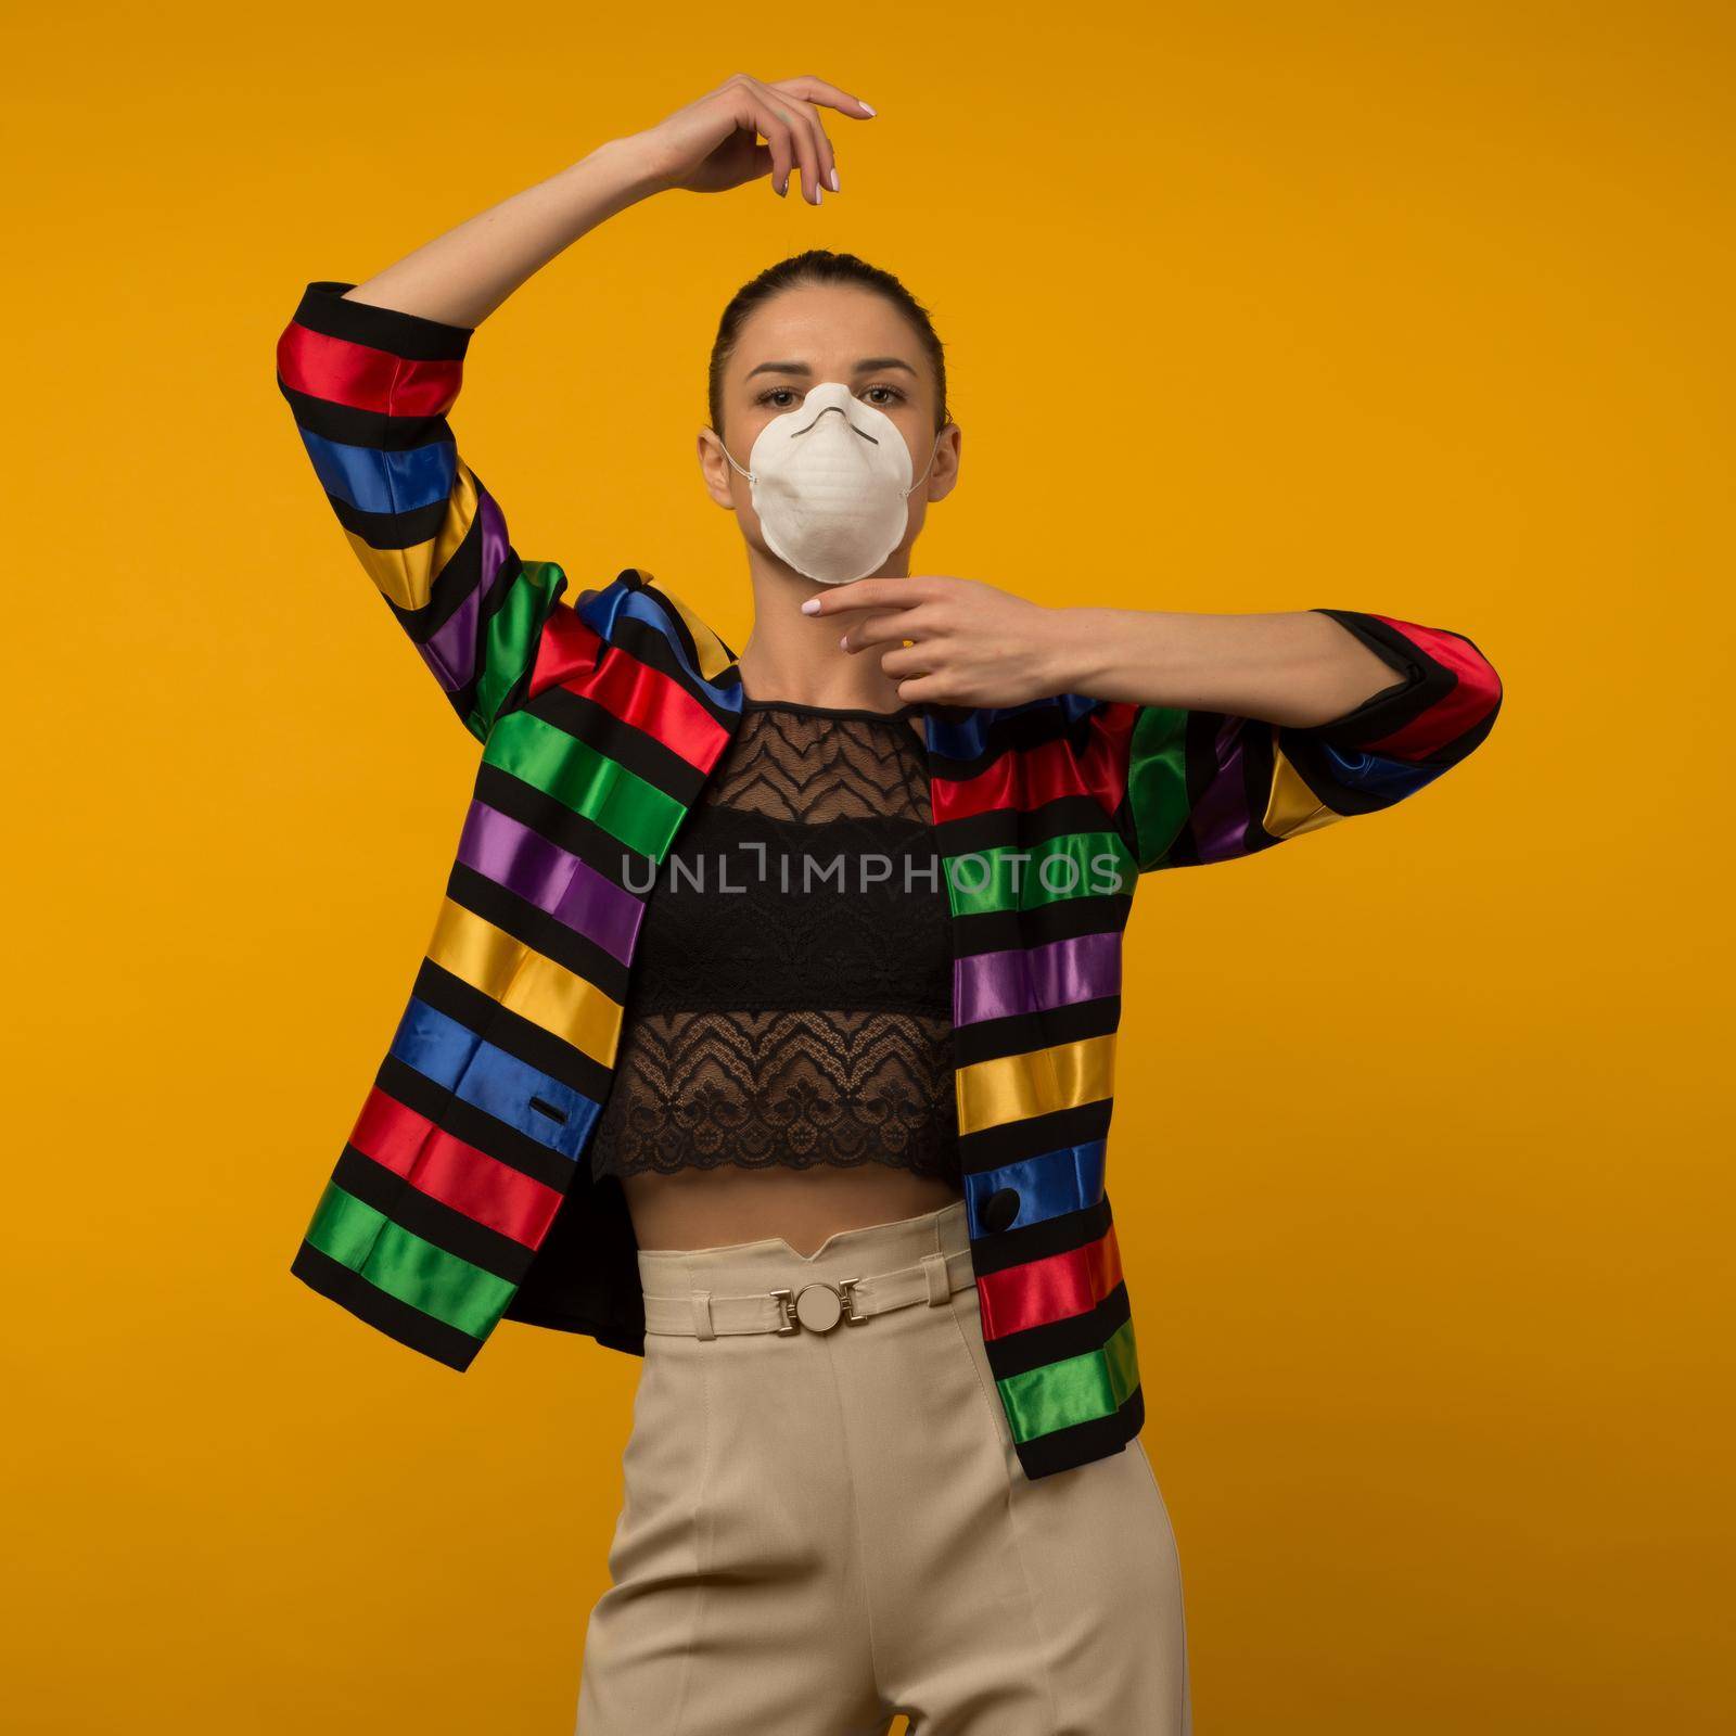
[[[566,576],[514,554],[458,457],[446,413],[472,328],[351,302],[349,288],[307,285],[278,339],[278,389],[363,569],[486,741],[523,698]]]

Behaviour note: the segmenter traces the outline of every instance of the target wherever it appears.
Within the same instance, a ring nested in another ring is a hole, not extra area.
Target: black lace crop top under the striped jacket
[[[915,715],[743,700],[648,898],[594,1175],[887,1163],[957,1182]]]

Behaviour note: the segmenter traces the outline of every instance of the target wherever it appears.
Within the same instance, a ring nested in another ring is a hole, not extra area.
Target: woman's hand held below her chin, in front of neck
[[[1007,707],[1066,691],[1066,611],[974,578],[858,578],[802,613],[854,616],[842,649],[877,654],[904,703]]]

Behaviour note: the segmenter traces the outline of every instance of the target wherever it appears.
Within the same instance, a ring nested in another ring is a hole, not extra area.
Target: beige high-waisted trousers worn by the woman
[[[948,1292],[932,1257],[960,1250]],[[858,1325],[646,1335],[578,1736],[884,1736],[896,1713],[915,1736],[1189,1736],[1180,1561],[1144,1446],[1024,1476],[962,1201],[806,1259],[773,1236],[642,1248],[639,1271],[660,1319],[715,1330],[779,1318],[724,1299],[925,1255],[922,1299]],[[804,1312],[832,1305],[811,1292]]]

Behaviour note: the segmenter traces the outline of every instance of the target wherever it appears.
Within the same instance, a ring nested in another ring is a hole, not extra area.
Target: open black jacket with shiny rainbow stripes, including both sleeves
[[[642,571],[566,601],[559,566],[521,559],[446,422],[469,328],[349,286],[307,286],[278,385],[481,766],[410,1003],[292,1271],[457,1370],[500,1319],[642,1354],[632,1222],[587,1144],[646,911],[628,885],[741,717],[736,656]],[[1500,682],[1469,639],[1325,613],[1394,684],[1312,729],[1073,693],[924,712],[970,1255],[1031,1477],[1120,1451],[1144,1418],[1104,1186],[1139,877],[1389,807],[1495,720]]]

